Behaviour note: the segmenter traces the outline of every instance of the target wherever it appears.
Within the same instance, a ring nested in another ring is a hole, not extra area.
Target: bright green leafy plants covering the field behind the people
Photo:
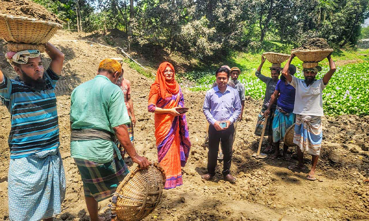
[[[349,60],[358,58],[353,53],[342,52],[334,55],[335,60]],[[241,83],[245,85],[246,96],[254,99],[262,99],[265,94],[265,83],[261,82],[254,75],[260,63],[260,55],[242,54],[238,59],[234,59],[235,66],[241,67],[242,75],[239,77]],[[346,58],[346,59],[345,59]],[[347,59],[348,58],[348,59]],[[359,63],[351,63],[337,66],[337,71],[333,75],[327,87],[323,90],[323,108],[327,115],[357,114],[369,115],[369,58],[360,56]],[[295,58],[292,62],[297,67],[296,77],[304,78],[301,61]],[[323,68],[318,73],[317,79],[323,77],[329,70],[327,60],[320,64]],[[270,76],[270,63],[265,62],[262,74]],[[215,70],[213,72],[194,71],[182,74],[187,80],[194,81],[195,86],[191,90],[208,90],[215,82]]]

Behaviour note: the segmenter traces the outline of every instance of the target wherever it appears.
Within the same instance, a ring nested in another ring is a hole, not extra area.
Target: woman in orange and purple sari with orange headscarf
[[[183,184],[182,168],[188,159],[191,146],[180,85],[174,79],[174,67],[163,62],[157,69],[155,82],[149,95],[149,112],[155,113],[157,158],[166,175],[165,189]]]

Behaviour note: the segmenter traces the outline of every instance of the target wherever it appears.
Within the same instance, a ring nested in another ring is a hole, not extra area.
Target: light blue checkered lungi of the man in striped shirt
[[[40,221],[62,212],[65,174],[59,149],[11,159],[8,173],[10,221]]]

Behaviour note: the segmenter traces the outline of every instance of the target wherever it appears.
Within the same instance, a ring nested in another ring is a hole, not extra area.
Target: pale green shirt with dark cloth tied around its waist
[[[70,102],[72,129],[99,129],[114,134],[113,127],[130,123],[121,88],[105,76],[97,75],[76,87]],[[96,163],[112,161],[114,150],[121,159],[112,141],[97,138],[70,142],[71,157]]]

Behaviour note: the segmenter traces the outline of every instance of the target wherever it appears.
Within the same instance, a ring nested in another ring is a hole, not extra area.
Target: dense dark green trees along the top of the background
[[[204,63],[234,51],[288,53],[311,37],[336,49],[355,45],[369,17],[369,0],[34,1],[56,13],[64,28],[118,28],[133,47],[159,46]]]

